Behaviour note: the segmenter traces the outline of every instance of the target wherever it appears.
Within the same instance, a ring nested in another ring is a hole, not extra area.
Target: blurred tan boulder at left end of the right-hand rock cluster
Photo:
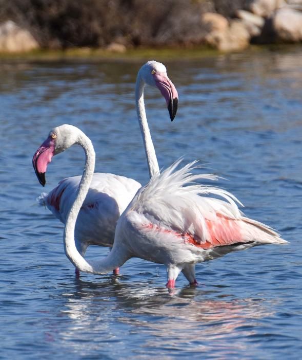
[[[243,50],[249,46],[250,33],[240,20],[233,20],[225,31],[211,31],[206,42],[224,52]]]

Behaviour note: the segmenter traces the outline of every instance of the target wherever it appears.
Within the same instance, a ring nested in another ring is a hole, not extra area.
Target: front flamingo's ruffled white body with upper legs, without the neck
[[[196,184],[217,177],[192,174],[195,164],[176,170],[178,160],[153,176],[116,227],[113,251],[123,244],[131,256],[165,264],[168,287],[174,287],[180,271],[196,283],[197,262],[256,245],[287,243],[267,225],[244,217],[228,191]]]

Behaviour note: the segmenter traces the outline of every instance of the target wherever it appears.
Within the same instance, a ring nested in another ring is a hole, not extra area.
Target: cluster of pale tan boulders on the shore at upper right
[[[205,13],[209,25],[206,43],[220,51],[236,51],[251,43],[302,42],[302,1],[253,0],[237,9],[231,19],[218,13]]]

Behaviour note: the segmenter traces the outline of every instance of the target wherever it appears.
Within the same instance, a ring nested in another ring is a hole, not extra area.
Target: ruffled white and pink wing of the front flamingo
[[[153,177],[128,207],[136,212],[134,221],[142,231],[173,234],[203,249],[252,242],[286,243],[270,227],[244,217],[239,201],[226,190],[193,183],[215,180],[215,176],[193,175],[195,163],[175,170],[178,164]]]

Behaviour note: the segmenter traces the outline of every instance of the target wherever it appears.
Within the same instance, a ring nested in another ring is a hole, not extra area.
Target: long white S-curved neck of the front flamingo
[[[78,145],[82,146],[82,148],[84,149],[86,155],[86,161],[85,161],[85,169],[83,172],[82,179],[79,183],[75,201],[72,204],[69,213],[67,215],[67,220],[64,230],[65,254],[68,257],[68,259],[73,263],[73,265],[79,269],[79,271],[83,271],[86,273],[93,273],[93,274],[103,274],[115,269],[116,267],[123,265],[123,263],[127,260],[127,258],[125,258],[124,255],[121,254],[120,251],[118,250],[118,247],[115,246],[105,259],[92,263],[86,261],[83,258],[83,256],[79,254],[75,246],[75,241],[74,241],[75,222],[79,210],[83,205],[85,197],[88,193],[94,172],[94,164],[95,164],[95,152],[90,139],[84,133],[82,133],[78,137],[77,143]],[[102,236],[102,234],[100,234],[100,236]]]

